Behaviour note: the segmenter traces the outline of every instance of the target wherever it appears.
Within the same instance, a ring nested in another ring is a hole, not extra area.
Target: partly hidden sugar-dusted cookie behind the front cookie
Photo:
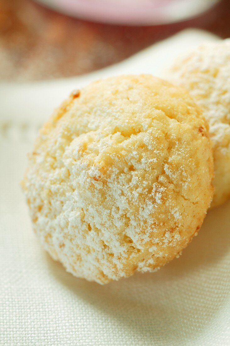
[[[212,207],[230,197],[230,39],[178,58],[167,78],[186,88],[208,121],[214,156]]]

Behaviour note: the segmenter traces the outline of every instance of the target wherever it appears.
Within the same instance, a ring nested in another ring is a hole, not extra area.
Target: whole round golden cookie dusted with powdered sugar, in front
[[[127,75],[72,93],[40,130],[22,185],[48,253],[104,284],[178,256],[201,227],[212,177],[188,93]]]

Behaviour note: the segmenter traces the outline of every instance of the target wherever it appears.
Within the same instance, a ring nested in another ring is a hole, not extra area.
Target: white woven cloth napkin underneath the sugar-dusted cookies
[[[19,186],[38,127],[71,89],[124,72],[159,75],[178,52],[208,39],[186,31],[85,77],[0,85],[0,345],[230,345],[230,202],[208,213],[179,259],[100,286],[43,251]]]

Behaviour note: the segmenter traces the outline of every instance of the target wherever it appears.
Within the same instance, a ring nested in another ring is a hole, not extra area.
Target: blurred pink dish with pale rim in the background
[[[195,17],[220,0],[36,0],[70,16],[110,24],[166,24]]]

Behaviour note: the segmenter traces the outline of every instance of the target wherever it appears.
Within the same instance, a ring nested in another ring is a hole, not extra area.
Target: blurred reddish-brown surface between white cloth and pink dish
[[[230,0],[190,21],[147,27],[87,22],[30,0],[1,0],[0,80],[33,81],[87,73],[187,27],[230,37]]]

